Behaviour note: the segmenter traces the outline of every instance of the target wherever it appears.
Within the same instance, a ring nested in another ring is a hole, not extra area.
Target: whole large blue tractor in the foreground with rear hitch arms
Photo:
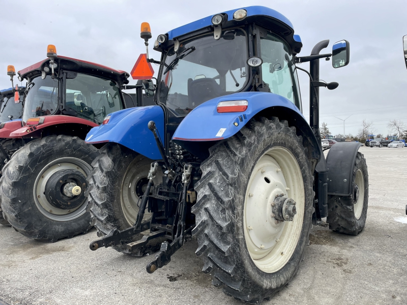
[[[151,37],[143,23],[147,48]],[[318,128],[318,89],[338,86],[319,80],[319,58],[349,63],[347,41],[319,54],[328,43],[299,57],[293,24],[259,6],[159,35],[160,60],[147,55],[160,65],[156,83],[138,85],[156,105],[108,114],[85,139],[106,143],[88,176],[102,237],[91,250],[156,252],[152,273],[196,236],[212,284],[259,303],[294,277],[312,224],[327,217],[332,230],[358,234],[368,201],[361,144],[338,143],[325,158]],[[310,77],[309,124],[298,70]]]

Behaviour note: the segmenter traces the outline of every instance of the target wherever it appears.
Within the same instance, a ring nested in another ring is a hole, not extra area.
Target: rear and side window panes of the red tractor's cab
[[[23,120],[55,114],[58,100],[58,81],[47,76],[33,79],[27,89]],[[119,86],[111,80],[78,73],[66,80],[65,109],[77,116],[101,124],[106,114],[123,109]]]

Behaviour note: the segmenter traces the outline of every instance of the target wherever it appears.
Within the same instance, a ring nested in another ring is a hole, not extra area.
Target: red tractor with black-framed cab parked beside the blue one
[[[17,231],[54,242],[91,228],[84,192],[99,151],[84,138],[107,114],[125,108],[129,74],[57,56],[53,45],[47,57],[18,72],[27,80],[23,114],[8,137],[22,147],[3,168],[0,199]]]

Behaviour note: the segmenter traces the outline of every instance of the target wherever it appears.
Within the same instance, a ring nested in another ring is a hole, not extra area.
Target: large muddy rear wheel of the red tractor
[[[65,135],[33,140],[19,149],[0,179],[6,220],[44,242],[86,233],[91,226],[83,193],[98,154],[93,145]],[[74,187],[76,195],[70,191]]]

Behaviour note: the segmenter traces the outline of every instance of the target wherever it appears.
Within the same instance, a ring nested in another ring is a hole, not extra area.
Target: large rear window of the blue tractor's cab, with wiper
[[[158,98],[170,115],[183,116],[210,99],[240,91],[247,82],[247,39],[243,29],[227,29],[169,49],[161,72]],[[179,59],[177,59],[177,57]]]

